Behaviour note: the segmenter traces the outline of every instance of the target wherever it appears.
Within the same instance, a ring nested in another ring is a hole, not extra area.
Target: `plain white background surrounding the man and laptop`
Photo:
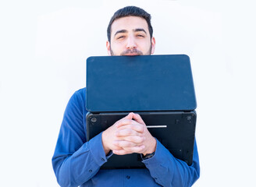
[[[62,115],[85,86],[85,62],[107,55],[106,28],[126,5],[151,13],[155,54],[190,56],[201,178],[255,186],[254,1],[5,1],[0,4],[1,186],[59,186],[52,154]]]

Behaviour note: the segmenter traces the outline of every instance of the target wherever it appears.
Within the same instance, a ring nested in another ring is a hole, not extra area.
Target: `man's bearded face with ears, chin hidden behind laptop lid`
[[[111,41],[107,41],[108,55],[151,55],[155,38],[150,37],[148,23],[137,16],[116,19],[111,27]]]

